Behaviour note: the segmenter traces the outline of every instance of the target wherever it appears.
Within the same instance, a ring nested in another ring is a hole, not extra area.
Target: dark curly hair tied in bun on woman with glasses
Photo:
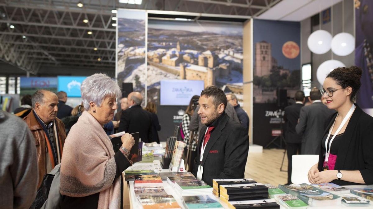
[[[353,102],[355,100],[356,93],[361,86],[360,78],[362,73],[363,71],[361,71],[360,67],[339,67],[335,68],[326,77],[333,78],[333,80],[335,80],[339,86],[342,86],[342,88],[350,86],[352,88],[350,100]]]

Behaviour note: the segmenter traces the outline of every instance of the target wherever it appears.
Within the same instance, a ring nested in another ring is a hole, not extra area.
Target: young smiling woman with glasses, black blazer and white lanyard
[[[336,68],[320,90],[337,112],[326,121],[319,163],[308,171],[313,184],[373,184],[373,118],[354,104],[361,74],[355,66]]]

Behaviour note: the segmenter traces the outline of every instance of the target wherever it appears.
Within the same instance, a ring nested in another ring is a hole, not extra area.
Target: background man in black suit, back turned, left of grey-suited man
[[[295,93],[295,104],[285,107],[285,115],[283,116],[286,122],[286,151],[288,152],[288,183],[291,183],[292,155],[301,154],[302,136],[297,134],[295,126],[298,123],[299,113],[305,101],[304,92],[297,91]]]

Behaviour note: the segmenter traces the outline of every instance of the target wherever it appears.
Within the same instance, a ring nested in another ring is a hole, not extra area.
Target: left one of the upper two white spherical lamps
[[[307,45],[315,54],[325,54],[330,50],[333,36],[326,30],[316,30],[308,37]]]

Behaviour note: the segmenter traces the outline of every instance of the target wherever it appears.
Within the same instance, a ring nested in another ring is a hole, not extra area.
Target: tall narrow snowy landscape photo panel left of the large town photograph
[[[117,80],[134,83],[134,91],[145,92],[145,22],[147,13],[118,10],[117,12]]]

